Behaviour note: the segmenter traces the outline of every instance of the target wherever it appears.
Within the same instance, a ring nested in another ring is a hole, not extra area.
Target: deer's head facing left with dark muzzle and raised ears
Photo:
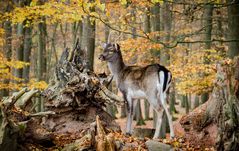
[[[102,61],[113,62],[121,56],[120,46],[116,43],[104,43],[102,47],[103,53],[99,56]]]

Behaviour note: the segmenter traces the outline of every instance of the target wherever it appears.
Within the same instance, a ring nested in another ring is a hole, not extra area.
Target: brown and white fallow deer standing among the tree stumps
[[[172,80],[171,72],[159,64],[145,67],[125,65],[118,44],[103,44],[103,53],[99,59],[108,62],[108,67],[116,80],[116,84],[127,102],[126,134],[132,134],[134,99],[146,98],[158,115],[153,138],[158,138],[160,135],[164,110],[169,121],[170,137],[174,137],[172,116],[166,104],[166,95]]]

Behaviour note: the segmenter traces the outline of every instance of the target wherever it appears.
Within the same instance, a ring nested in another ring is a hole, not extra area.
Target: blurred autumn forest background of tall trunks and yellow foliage
[[[0,98],[26,86],[45,89],[77,38],[96,73],[109,74],[98,60],[104,42],[119,43],[127,64],[167,66],[170,111],[185,114],[208,100],[216,65],[239,54],[239,0],[0,0]],[[37,106],[44,110],[41,99]],[[138,125],[152,118],[149,110],[138,103]],[[126,116],[125,107],[107,111]]]

